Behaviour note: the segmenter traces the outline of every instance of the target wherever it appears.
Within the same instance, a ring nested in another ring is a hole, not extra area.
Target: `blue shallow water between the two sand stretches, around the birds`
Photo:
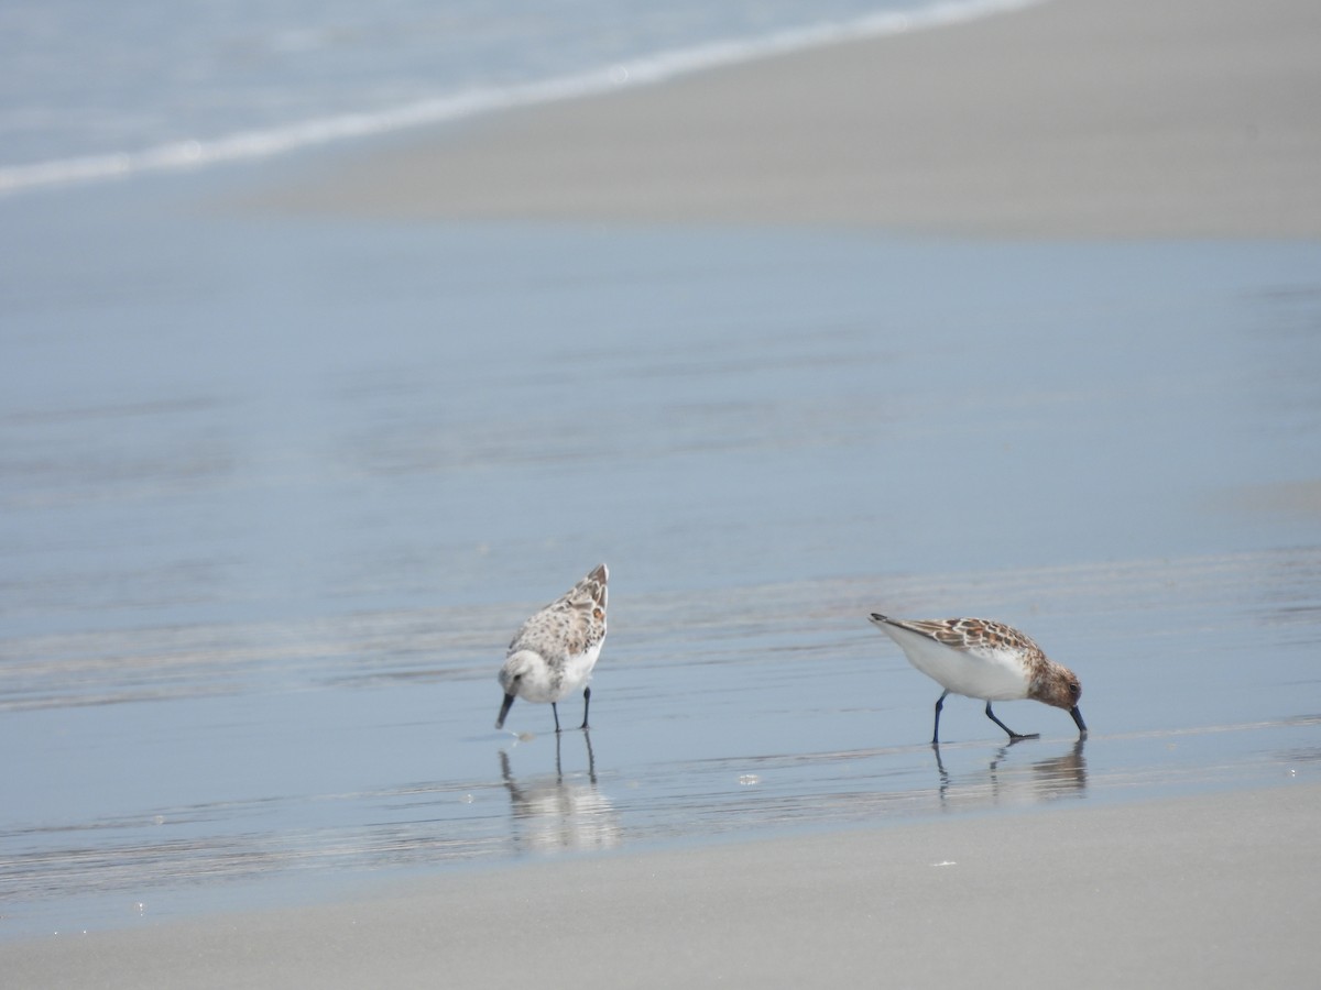
[[[0,937],[1316,779],[1317,246],[210,191],[0,203]],[[601,560],[590,737],[497,733],[509,636]],[[934,752],[877,609],[1021,626],[1091,738],[954,698]]]

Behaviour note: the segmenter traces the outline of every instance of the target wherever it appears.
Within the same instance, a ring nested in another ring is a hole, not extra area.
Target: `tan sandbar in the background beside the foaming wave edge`
[[[276,195],[398,216],[1321,234],[1321,9],[1054,0],[433,132]]]

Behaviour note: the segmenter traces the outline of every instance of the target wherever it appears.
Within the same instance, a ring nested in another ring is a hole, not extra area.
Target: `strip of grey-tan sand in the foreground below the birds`
[[[540,861],[0,944],[21,985],[1301,985],[1321,785]],[[956,935],[955,935],[956,933]]]

